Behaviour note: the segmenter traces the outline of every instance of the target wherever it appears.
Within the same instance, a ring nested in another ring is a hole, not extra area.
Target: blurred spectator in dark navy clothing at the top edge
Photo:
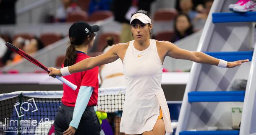
[[[91,15],[97,10],[110,10],[112,0],[91,0],[88,14]]]

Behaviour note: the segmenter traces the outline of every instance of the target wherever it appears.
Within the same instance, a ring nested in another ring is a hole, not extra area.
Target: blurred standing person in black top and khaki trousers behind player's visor
[[[126,43],[134,40],[131,34],[131,13],[137,10],[150,11],[150,5],[154,0],[113,0],[112,11],[115,21],[122,23],[120,42]]]

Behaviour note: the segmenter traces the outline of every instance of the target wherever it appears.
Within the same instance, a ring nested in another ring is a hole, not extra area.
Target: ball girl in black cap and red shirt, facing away
[[[94,42],[94,32],[99,26],[90,26],[84,21],[74,23],[69,29],[70,45],[63,66],[71,66],[89,58],[87,50]],[[98,99],[98,67],[67,75],[64,78],[75,84],[74,91],[63,84],[63,105],[55,116],[55,135],[100,135],[101,126],[94,107]]]

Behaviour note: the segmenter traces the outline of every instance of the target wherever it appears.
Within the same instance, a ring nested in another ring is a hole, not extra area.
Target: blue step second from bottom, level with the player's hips
[[[243,102],[245,91],[192,91],[188,102]]]

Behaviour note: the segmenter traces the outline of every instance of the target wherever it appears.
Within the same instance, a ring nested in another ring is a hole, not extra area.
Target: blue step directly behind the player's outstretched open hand
[[[222,59],[226,61],[236,61],[236,60],[246,60],[253,57],[253,51],[240,51],[240,52],[204,52],[207,55],[211,55],[217,59]]]

